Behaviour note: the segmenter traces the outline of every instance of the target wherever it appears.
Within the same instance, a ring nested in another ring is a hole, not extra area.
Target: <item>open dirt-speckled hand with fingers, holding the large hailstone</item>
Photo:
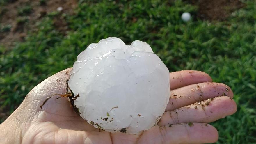
[[[33,88],[10,116],[21,122],[22,143],[209,143],[218,139],[218,132],[205,123],[236,111],[228,86],[205,83],[211,78],[203,72],[173,72],[170,75],[170,102],[159,126],[136,135],[111,134],[99,131],[83,120],[69,106],[67,98],[55,100],[56,96],[42,109],[39,107],[49,95],[65,93],[68,71],[59,72]],[[217,97],[223,93],[227,96]]]

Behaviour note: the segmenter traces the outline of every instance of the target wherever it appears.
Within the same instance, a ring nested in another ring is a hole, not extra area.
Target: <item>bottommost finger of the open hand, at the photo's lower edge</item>
[[[218,131],[209,124],[186,123],[156,126],[145,131],[138,143],[214,143]]]

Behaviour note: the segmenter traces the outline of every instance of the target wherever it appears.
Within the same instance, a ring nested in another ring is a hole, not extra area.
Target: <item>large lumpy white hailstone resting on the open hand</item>
[[[170,96],[169,71],[146,43],[115,37],[77,56],[68,82],[80,116],[96,128],[137,134],[160,119]]]

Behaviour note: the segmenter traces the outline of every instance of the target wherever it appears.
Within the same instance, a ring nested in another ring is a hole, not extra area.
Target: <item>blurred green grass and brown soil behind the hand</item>
[[[238,110],[211,123],[217,143],[256,143],[255,22],[255,0],[0,0],[0,122],[90,43],[113,36],[149,43],[170,72],[200,70],[229,85]]]

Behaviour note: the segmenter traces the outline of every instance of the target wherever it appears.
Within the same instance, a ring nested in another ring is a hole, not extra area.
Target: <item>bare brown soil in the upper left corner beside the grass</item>
[[[40,2],[41,1],[41,2]],[[31,7],[29,12],[19,11]],[[36,22],[47,13],[57,11],[62,7],[62,13],[72,14],[77,6],[77,0],[11,0],[4,6],[0,6],[0,28],[10,26],[10,31],[0,33],[0,44],[6,48],[14,45],[14,42],[23,41],[28,30],[36,31]],[[61,17],[54,18],[56,29],[63,34],[68,30],[65,20]]]

